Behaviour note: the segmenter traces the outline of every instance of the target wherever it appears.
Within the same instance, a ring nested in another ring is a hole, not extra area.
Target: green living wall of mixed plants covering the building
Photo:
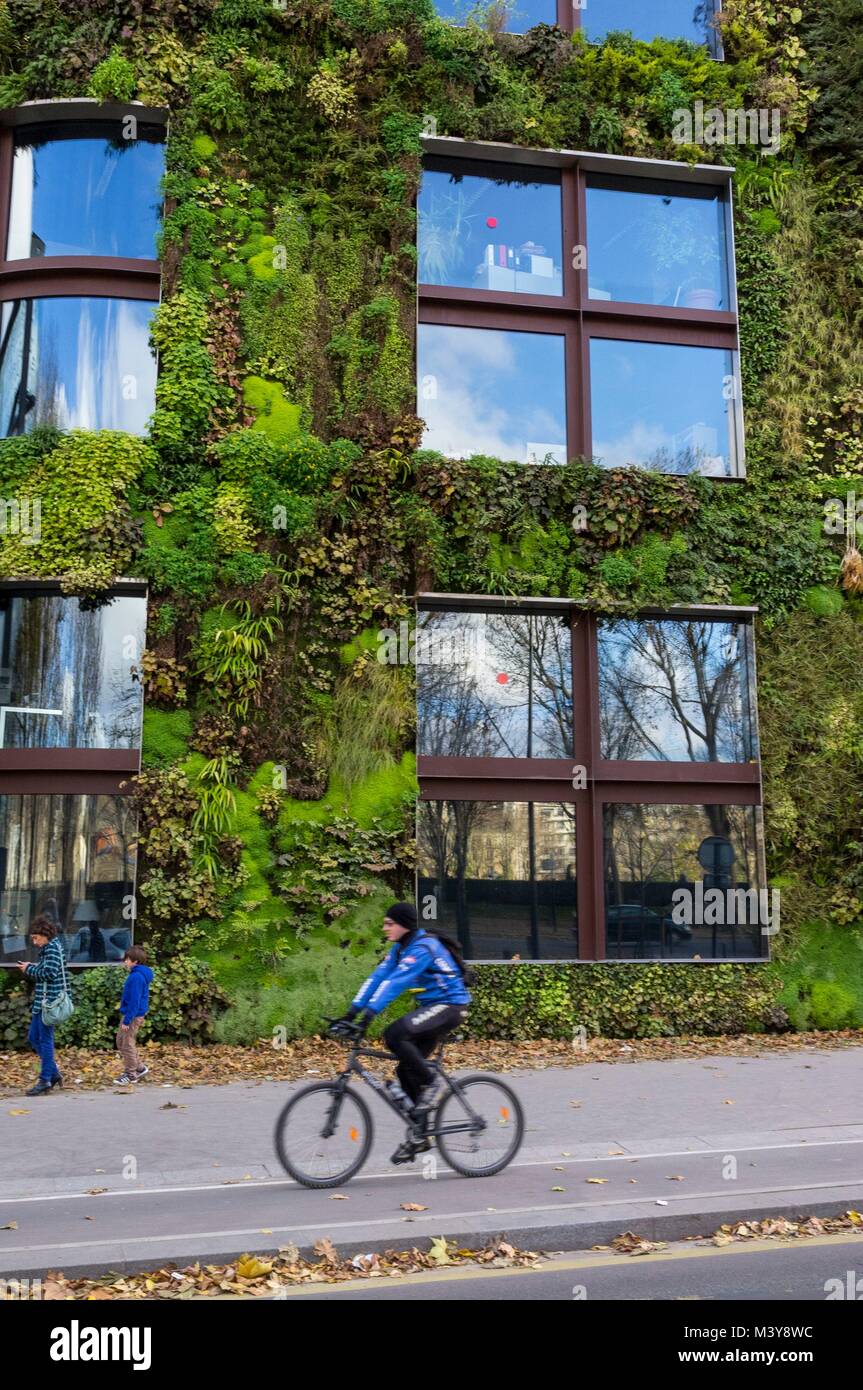
[[[43,499],[44,538],[1,537],[0,575],[150,581],[139,935],[211,965],[225,1037],[313,1027],[407,891],[410,681],[368,632],[417,587],[760,609],[778,963],[485,967],[477,1029],[863,1023],[862,599],[823,528],[824,499],[863,488],[862,21],[855,0],[728,0],[721,25],[717,64],[682,42],[454,29],[431,0],[0,0],[0,106],[171,110],[151,428],[0,442],[0,492]],[[712,163],[671,139],[695,100],[782,121],[774,157],[721,150],[748,482],[417,453],[427,118]]]

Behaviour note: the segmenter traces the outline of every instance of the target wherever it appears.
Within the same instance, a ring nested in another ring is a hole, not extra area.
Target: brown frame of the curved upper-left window
[[[0,111],[0,303],[17,299],[142,299],[158,303],[161,263],[125,256],[31,256],[7,260],[15,131],[28,125],[122,121],[167,126],[163,107],[96,100],[26,101]]]

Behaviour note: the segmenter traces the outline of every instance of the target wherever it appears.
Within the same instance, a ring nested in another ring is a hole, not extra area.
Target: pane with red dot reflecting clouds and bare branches
[[[568,621],[527,613],[418,614],[418,751],[438,758],[568,758]]]

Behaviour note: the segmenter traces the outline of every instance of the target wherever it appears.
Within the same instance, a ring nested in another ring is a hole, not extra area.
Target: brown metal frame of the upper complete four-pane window
[[[567,456],[592,456],[591,421],[591,338],[618,342],[670,343],[691,348],[720,348],[734,354],[737,398],[734,410],[735,473],[713,478],[741,482],[746,477],[743,411],[739,374],[739,327],[731,207],[732,170],[724,165],[678,164],[666,160],[638,160],[625,156],[591,154],[574,150],[529,150],[521,146],[460,140],[453,136],[424,136],[427,154],[450,160],[482,160],[510,168],[517,175],[534,168],[557,168],[561,202],[563,293],[518,295],[510,291],[463,289],[457,285],[417,282],[417,322],[449,328],[493,328],[503,332],[554,334],[564,339],[564,400]],[[725,247],[731,309],[685,309],[668,304],[638,304],[624,300],[591,299],[588,268],[573,268],[573,250],[588,246],[586,181],[591,174],[620,178],[707,183],[725,190]],[[529,467],[529,464],[525,464]]]

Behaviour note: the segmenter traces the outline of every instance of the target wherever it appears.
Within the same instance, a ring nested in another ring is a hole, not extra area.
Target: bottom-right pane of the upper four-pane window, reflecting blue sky
[[[606,468],[734,475],[735,398],[724,348],[591,339],[593,456]]]

